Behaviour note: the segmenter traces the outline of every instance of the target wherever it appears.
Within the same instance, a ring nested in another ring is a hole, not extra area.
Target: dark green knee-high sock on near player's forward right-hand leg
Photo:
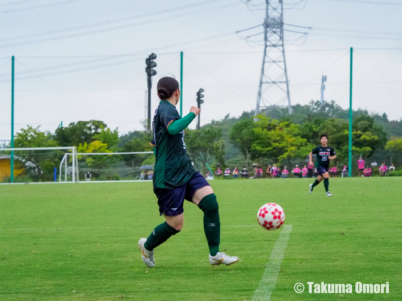
[[[203,197],[198,207],[204,212],[204,232],[208,242],[209,254],[215,256],[219,252],[221,236],[219,206],[215,194],[211,193]]]

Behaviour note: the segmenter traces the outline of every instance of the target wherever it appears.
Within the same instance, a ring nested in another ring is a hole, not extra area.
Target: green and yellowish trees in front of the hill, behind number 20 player
[[[294,159],[304,159],[319,143],[319,136],[327,134],[329,144],[336,149],[335,165],[347,162],[349,147],[349,124],[342,119],[314,117],[302,124],[294,124],[289,118],[275,120],[265,116],[244,118],[230,130],[230,141],[236,145],[246,165],[250,159],[266,159],[272,163],[291,165]],[[369,157],[375,150],[402,151],[401,139],[393,137],[388,143],[386,133],[374,123],[373,117],[361,115],[352,124],[352,150],[355,154]]]

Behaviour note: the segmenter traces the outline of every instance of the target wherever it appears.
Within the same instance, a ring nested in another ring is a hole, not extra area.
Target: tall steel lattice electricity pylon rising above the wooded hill
[[[264,57],[255,115],[288,108],[292,113],[283,48],[283,0],[265,0]],[[256,121],[258,118],[254,118]]]

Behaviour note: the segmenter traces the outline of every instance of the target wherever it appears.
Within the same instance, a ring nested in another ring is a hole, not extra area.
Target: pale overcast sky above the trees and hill
[[[307,36],[284,34],[291,103],[320,99],[320,80],[326,75],[324,99],[348,108],[353,47],[353,108],[402,118],[402,1],[304,0],[290,5],[297,2],[285,2],[284,22],[312,31]],[[151,52],[158,64],[152,112],[158,105],[158,79],[172,73],[180,81],[180,51],[183,114],[196,105],[200,87],[205,89],[201,124],[255,108],[263,47],[242,38],[262,30],[234,32],[262,24],[265,10],[256,8],[264,6],[240,0],[0,3],[0,139],[10,139],[12,55],[15,132],[27,124],[54,132],[61,121],[67,126],[90,119],[118,127],[120,134],[141,130],[145,59]]]

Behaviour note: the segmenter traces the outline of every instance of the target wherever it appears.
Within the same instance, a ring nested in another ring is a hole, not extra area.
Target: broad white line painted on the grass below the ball
[[[269,301],[271,299],[291,230],[292,225],[283,226],[282,232],[272,250],[271,258],[269,258],[265,268],[263,278],[261,278],[260,285],[254,291],[252,301]]]

